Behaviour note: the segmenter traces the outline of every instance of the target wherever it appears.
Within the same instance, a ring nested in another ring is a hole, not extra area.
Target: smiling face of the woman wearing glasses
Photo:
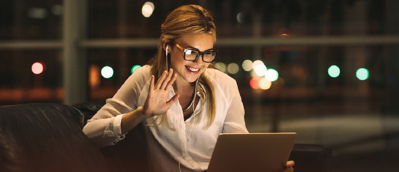
[[[196,49],[200,52],[213,50],[215,40],[213,35],[207,33],[195,33],[189,35],[182,35],[178,37],[172,45],[170,50],[170,67],[175,74],[178,74],[176,81],[184,79],[188,82],[194,82],[199,75],[205,71],[210,63],[202,61],[202,55],[196,61],[184,60],[184,52],[176,47],[176,44],[188,49]]]

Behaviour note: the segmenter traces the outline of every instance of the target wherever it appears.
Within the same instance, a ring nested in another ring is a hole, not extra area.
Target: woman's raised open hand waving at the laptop
[[[176,74],[172,75],[173,69],[170,69],[168,73],[165,70],[155,85],[154,75],[151,76],[148,96],[142,110],[144,117],[150,118],[155,115],[162,115],[178,100],[180,94],[175,94],[167,101],[170,88],[177,77]]]

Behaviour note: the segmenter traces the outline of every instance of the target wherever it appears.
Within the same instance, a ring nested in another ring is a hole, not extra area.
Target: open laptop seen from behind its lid
[[[296,133],[222,133],[207,172],[277,172],[295,140]]]

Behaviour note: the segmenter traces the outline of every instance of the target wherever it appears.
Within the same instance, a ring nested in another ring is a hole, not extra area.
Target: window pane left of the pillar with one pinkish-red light
[[[60,51],[0,51],[0,105],[62,102]]]

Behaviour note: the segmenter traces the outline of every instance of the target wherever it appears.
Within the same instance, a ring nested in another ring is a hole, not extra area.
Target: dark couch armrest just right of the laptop
[[[330,172],[332,151],[323,145],[295,144],[288,160],[295,161],[295,172]]]

